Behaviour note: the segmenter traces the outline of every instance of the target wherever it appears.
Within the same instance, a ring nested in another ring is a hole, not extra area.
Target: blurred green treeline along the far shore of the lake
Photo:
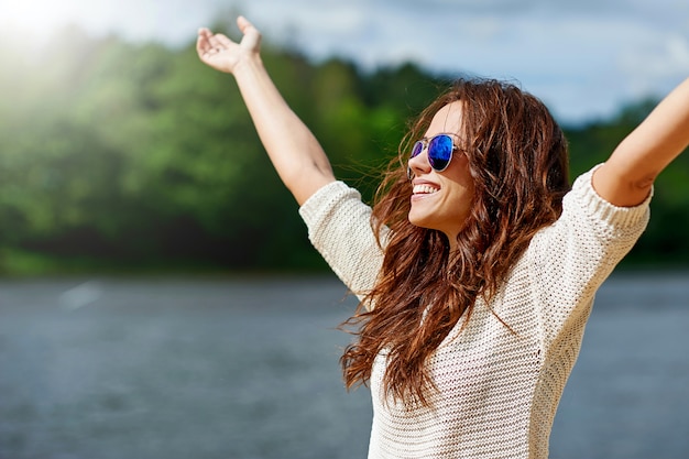
[[[232,78],[171,48],[65,30],[41,53],[0,45],[0,272],[319,270],[297,206]],[[362,72],[264,47],[266,67],[336,173],[374,192],[406,120],[446,84],[413,64]],[[568,129],[572,173],[647,113]],[[658,182],[631,262],[689,261],[689,159]]]

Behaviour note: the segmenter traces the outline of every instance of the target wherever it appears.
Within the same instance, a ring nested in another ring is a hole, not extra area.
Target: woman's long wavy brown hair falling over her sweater
[[[463,102],[458,146],[474,196],[450,253],[444,233],[407,219],[406,164],[411,144],[455,101]],[[371,223],[385,255],[374,288],[343,324],[357,336],[340,359],[347,386],[368,384],[384,351],[385,393],[428,405],[436,386],[426,361],[462,315],[470,319],[479,296],[488,302],[497,292],[534,234],[560,216],[569,189],[567,142],[540,100],[505,81],[455,81],[409,125],[378,190]]]

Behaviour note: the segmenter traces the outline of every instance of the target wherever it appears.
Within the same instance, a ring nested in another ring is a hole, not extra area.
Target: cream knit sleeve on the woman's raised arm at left
[[[373,287],[383,251],[371,226],[371,208],[342,182],[317,190],[299,208],[308,237],[332,271],[360,298]]]

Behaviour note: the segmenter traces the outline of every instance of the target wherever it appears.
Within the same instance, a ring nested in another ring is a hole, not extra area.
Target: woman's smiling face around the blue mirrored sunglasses
[[[442,107],[433,118],[425,139],[437,134],[451,134],[458,145],[461,132],[462,102],[455,101]],[[436,172],[424,151],[409,160],[413,173],[412,208],[409,222],[418,227],[442,231],[452,248],[457,234],[464,227],[474,193],[469,174],[469,162],[461,150],[455,150],[452,160],[442,172]]]

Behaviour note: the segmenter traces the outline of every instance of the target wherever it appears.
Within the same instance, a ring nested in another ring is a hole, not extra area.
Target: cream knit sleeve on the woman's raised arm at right
[[[597,167],[577,178],[560,218],[527,251],[533,299],[550,342],[568,325],[586,321],[595,291],[648,222],[650,196],[636,207],[608,203],[591,184]]]

